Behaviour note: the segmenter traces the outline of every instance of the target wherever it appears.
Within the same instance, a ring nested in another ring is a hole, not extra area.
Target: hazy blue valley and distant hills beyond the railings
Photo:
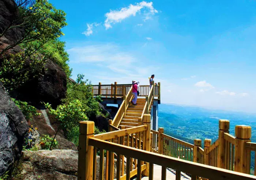
[[[159,105],[158,126],[165,134],[193,143],[193,139],[218,138],[219,119],[230,120],[230,134],[234,135],[236,125],[252,127],[252,142],[256,142],[256,114],[209,110],[176,104]]]

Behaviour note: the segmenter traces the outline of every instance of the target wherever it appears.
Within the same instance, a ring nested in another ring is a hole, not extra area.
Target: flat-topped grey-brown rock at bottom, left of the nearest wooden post
[[[103,167],[105,172],[106,158],[104,158]],[[77,171],[77,151],[24,151],[12,180],[77,180]],[[114,178],[116,178],[116,160],[114,161]],[[96,179],[99,179],[99,156],[97,156]]]

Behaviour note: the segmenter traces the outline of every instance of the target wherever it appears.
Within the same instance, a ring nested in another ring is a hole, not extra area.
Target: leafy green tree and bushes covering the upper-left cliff
[[[48,0],[36,0],[31,4],[31,7],[18,6],[19,20],[14,20],[14,24],[8,27],[26,27],[25,35],[0,52],[0,81],[8,91],[37,76],[48,58],[59,64],[67,76],[71,74],[67,64],[68,54],[64,50],[65,44],[58,39],[64,35],[61,28],[67,25],[65,12],[54,8]],[[4,30],[0,37],[7,30]],[[6,57],[4,52],[16,45],[23,47],[24,51]]]

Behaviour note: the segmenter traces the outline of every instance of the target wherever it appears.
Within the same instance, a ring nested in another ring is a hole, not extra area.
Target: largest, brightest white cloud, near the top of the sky
[[[122,20],[128,18],[129,16],[136,16],[137,12],[140,12],[140,9],[146,8],[149,9],[148,11],[144,11],[143,13],[146,14],[146,19],[149,19],[149,15],[154,15],[158,11],[153,7],[152,2],[142,1],[140,3],[136,3],[135,5],[130,4],[129,7],[121,8],[120,11],[112,11],[106,13],[106,20],[105,20],[105,27],[109,29],[112,27],[112,23],[120,23]]]

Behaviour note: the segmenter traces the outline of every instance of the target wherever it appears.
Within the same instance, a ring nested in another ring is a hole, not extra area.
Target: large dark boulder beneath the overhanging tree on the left
[[[33,74],[30,74],[32,77]],[[13,94],[17,99],[30,102],[38,108],[42,108],[41,102],[52,104],[55,108],[61,104],[61,99],[66,97],[67,76],[59,65],[48,60],[42,72],[35,78],[26,81],[22,87]]]

